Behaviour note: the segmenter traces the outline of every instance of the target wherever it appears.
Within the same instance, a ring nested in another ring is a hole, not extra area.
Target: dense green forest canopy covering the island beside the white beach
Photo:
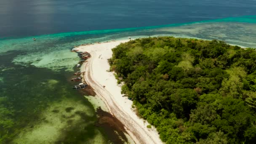
[[[122,93],[167,144],[256,143],[255,49],[149,37],[112,51]]]

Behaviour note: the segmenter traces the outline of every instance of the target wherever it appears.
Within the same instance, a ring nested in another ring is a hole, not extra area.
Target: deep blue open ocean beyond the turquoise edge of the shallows
[[[0,37],[256,15],[255,0],[0,0]]]

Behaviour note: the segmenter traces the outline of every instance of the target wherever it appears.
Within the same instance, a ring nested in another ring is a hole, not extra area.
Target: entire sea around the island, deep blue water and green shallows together
[[[70,50],[162,35],[256,48],[255,8],[256,0],[0,0],[0,144],[120,144],[115,129],[97,125],[102,101],[72,90],[79,57]]]

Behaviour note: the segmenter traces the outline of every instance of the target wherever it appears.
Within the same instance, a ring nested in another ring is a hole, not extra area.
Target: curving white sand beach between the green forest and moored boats
[[[162,144],[155,128],[147,128],[148,123],[139,118],[132,108],[132,101],[121,94],[121,86],[113,72],[109,70],[107,59],[112,57],[112,48],[125,43],[128,40],[111,41],[108,43],[95,43],[94,45],[83,45],[74,50],[89,52],[91,58],[83,63],[81,71],[85,71],[84,80],[96,92],[107,105],[109,112],[115,115],[124,125],[136,144]],[[105,87],[103,87],[105,86]]]

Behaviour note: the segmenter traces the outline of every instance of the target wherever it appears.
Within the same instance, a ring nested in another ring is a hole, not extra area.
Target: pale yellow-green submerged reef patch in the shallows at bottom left
[[[69,112],[67,112],[67,109]],[[77,109],[77,111],[72,109]],[[91,108],[84,105],[81,101],[64,98],[60,102],[53,102],[42,112],[41,117],[40,121],[34,122],[31,124],[32,126],[29,125],[24,128],[16,139],[14,139],[14,142],[33,144],[37,141],[37,144],[43,144],[45,140],[47,140],[47,143],[69,141],[68,133],[70,132],[73,132],[74,136],[77,135],[77,140],[80,141],[81,139],[78,139],[78,131],[84,134],[91,133],[94,136],[98,135],[98,138],[104,141],[104,137],[99,131],[93,130],[96,131],[93,133],[92,131],[88,131],[88,129],[93,128],[96,117],[93,115]],[[86,142],[92,139],[93,136],[84,135],[82,141],[85,140],[84,142]],[[73,142],[75,143],[75,140]]]

